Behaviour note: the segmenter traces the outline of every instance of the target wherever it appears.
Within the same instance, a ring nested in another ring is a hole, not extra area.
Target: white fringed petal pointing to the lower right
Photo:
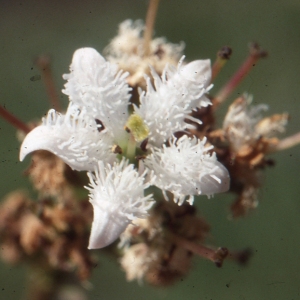
[[[217,161],[213,147],[205,147],[206,139],[183,136],[170,140],[170,146],[156,148],[145,159],[145,165],[156,175],[155,185],[172,192],[174,201],[181,205],[186,197],[191,204],[194,195],[213,195],[229,189],[229,173]]]

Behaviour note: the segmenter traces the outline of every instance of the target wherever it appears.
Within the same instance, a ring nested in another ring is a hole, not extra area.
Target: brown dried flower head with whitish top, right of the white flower
[[[238,198],[231,206],[234,217],[242,216],[258,204],[261,171],[273,162],[266,157],[279,143],[275,137],[285,131],[288,115],[262,118],[268,107],[251,106],[252,97],[244,95],[236,99],[228,109],[219,132],[228,151],[221,161],[231,175],[231,190]],[[212,134],[214,135],[214,134]]]

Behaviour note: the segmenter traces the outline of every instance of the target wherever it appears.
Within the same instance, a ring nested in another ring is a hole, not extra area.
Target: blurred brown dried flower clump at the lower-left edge
[[[4,260],[16,263],[26,258],[46,269],[76,271],[81,281],[90,277],[95,261],[86,244],[92,212],[85,202],[57,206],[14,192],[1,205],[0,216]]]

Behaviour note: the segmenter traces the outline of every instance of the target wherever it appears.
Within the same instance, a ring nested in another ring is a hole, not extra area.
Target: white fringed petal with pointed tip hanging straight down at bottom
[[[99,162],[95,174],[88,173],[90,202],[94,221],[89,249],[105,247],[114,242],[136,218],[145,218],[153,205],[152,195],[144,196],[146,172],[139,175],[134,165],[123,159],[119,164]]]

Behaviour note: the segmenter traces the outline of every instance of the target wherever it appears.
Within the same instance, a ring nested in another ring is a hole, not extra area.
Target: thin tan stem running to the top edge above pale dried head
[[[146,28],[144,31],[144,55],[150,54],[150,43],[152,40],[155,18],[157,14],[158,4],[160,0],[150,0],[147,16],[146,16]]]

